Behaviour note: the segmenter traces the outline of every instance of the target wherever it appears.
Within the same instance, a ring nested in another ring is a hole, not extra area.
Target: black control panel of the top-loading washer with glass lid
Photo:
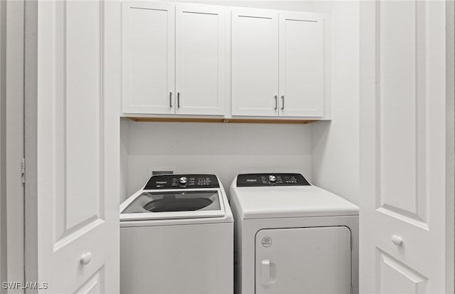
[[[218,184],[218,179],[215,174],[164,174],[151,177],[144,189],[198,189],[219,187],[220,184]]]

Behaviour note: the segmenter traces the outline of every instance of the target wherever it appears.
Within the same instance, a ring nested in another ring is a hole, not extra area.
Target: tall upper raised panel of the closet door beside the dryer
[[[424,7],[420,8],[417,10],[412,1],[380,5],[378,209],[424,222],[427,215],[427,146],[422,143],[427,133],[424,111],[427,61]],[[423,23],[420,28],[416,26],[417,19]]]

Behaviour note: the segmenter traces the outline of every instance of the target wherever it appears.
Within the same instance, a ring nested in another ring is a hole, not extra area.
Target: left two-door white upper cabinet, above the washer
[[[225,9],[123,5],[123,112],[224,115]]]

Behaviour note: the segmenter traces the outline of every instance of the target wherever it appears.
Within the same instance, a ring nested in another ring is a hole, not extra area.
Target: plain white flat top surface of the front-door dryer
[[[242,219],[358,216],[358,206],[315,186],[233,187]]]

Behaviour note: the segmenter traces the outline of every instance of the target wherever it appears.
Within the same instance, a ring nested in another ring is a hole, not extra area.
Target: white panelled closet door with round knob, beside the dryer
[[[453,293],[445,5],[360,3],[360,293]]]

